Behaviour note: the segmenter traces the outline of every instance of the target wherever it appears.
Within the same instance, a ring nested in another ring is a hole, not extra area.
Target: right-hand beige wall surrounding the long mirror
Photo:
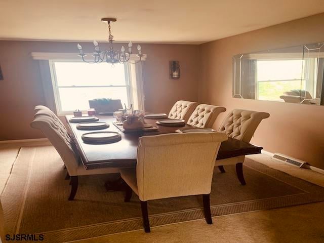
[[[200,102],[266,111],[252,143],[324,169],[324,107],[232,98],[232,56],[267,49],[324,42],[324,14],[231,36],[200,46]],[[217,31],[217,30],[215,30]],[[218,117],[218,128],[225,114]]]

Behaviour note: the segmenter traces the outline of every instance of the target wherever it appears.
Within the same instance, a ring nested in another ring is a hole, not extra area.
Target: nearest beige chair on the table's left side
[[[71,178],[69,200],[74,199],[78,186],[78,176],[118,173],[118,168],[86,170],[73,140],[67,133],[62,122],[59,121],[59,118],[51,110],[38,109],[30,126],[41,130],[60,154],[68,175]]]

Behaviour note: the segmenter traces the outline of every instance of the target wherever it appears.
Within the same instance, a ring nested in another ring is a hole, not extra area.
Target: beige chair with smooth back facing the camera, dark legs
[[[141,200],[145,232],[150,232],[147,201],[203,194],[205,218],[212,224],[209,194],[218,149],[227,140],[224,133],[164,134],[139,138],[136,169],[120,169]]]

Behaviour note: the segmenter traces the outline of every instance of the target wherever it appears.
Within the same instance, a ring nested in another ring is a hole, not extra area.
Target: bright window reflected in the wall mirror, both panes
[[[285,91],[305,90],[303,70],[303,60],[257,60],[257,99],[282,101]]]

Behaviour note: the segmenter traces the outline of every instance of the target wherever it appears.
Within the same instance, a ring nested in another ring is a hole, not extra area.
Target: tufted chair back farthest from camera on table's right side
[[[170,119],[184,119],[187,122],[190,114],[197,105],[197,102],[179,100],[171,108],[168,117]]]

